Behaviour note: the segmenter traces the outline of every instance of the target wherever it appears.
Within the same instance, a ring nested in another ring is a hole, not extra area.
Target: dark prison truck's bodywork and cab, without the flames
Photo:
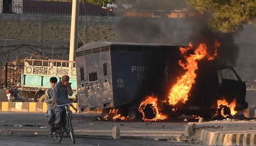
[[[119,42],[83,45],[76,50],[80,110],[103,109],[104,114],[110,108],[118,108],[129,118],[135,118],[146,96],[153,93],[159,102],[165,100],[177,77],[185,73],[178,64],[184,59],[179,47]],[[196,83],[189,93],[191,97],[187,104],[177,104],[179,110],[206,111],[222,97],[230,101],[236,97],[238,110],[247,108],[245,84],[233,68],[207,59],[198,66]]]

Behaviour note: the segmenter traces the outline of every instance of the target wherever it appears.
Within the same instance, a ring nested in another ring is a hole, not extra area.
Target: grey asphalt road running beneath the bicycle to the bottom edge
[[[154,141],[184,133],[187,122],[114,122],[101,121],[93,114],[75,114],[72,124],[78,146],[182,146],[185,142]],[[121,139],[112,140],[112,128],[120,128]],[[49,127],[44,113],[0,112],[0,129],[13,131],[12,136],[0,135],[0,146],[50,146],[72,145],[64,137],[61,144],[47,137]]]

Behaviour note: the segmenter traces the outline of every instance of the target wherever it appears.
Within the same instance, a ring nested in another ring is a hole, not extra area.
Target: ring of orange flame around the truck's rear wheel
[[[142,120],[144,122],[151,122],[151,121],[157,121],[157,120],[165,120],[167,119],[167,115],[164,115],[159,112],[158,104],[157,104],[157,98],[148,96],[144,101],[140,103],[139,112],[142,113]],[[151,104],[151,108],[154,111],[155,118],[153,119],[147,119],[146,115],[144,113],[144,109],[148,104]]]

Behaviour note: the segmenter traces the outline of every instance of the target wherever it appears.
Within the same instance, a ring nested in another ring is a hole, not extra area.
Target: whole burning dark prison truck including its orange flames
[[[218,62],[220,45],[88,43],[76,50],[78,105],[106,120],[239,115],[248,107],[245,83]]]

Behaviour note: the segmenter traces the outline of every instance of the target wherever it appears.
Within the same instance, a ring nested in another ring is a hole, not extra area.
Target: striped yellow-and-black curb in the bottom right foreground
[[[254,146],[256,145],[256,133],[228,134],[202,130],[200,141],[208,146]]]

